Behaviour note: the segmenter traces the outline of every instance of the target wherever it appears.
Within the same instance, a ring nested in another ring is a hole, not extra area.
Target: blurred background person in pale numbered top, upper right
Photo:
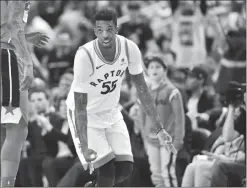
[[[173,4],[171,48],[177,65],[194,66],[206,60],[203,8],[195,1],[171,1]],[[205,5],[205,0],[201,1]],[[175,5],[175,6],[174,6]],[[203,10],[203,11],[202,11]]]

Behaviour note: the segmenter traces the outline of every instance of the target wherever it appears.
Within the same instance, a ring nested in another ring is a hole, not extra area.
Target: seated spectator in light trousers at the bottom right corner
[[[219,178],[219,176],[212,176],[212,169],[217,168],[217,170],[222,170],[222,167],[227,169],[227,165],[224,164],[236,164],[239,166],[238,175],[240,177],[245,177],[245,149],[244,149],[244,136],[240,135],[234,130],[234,124],[236,126],[245,127],[245,120],[243,113],[236,113],[232,105],[228,108],[228,115],[225,120],[222,136],[215,141],[212,151],[214,152],[203,152],[206,156],[197,156],[195,160],[189,164],[186,168],[185,175],[183,178],[183,187],[207,187],[210,186],[211,178]],[[241,121],[241,122],[240,122]],[[241,125],[239,125],[241,124]],[[217,146],[217,147],[216,147]],[[231,165],[230,165],[231,166]],[[234,166],[234,165],[232,165]],[[220,168],[219,168],[220,167]],[[232,172],[231,172],[232,173]],[[222,174],[224,176],[224,174]],[[240,178],[241,179],[241,178]],[[224,178],[226,180],[226,178]],[[216,181],[216,182],[221,182]],[[226,185],[227,182],[223,182],[221,185]],[[214,185],[214,186],[219,186]],[[240,184],[238,184],[240,185]],[[235,184],[235,186],[238,186]]]

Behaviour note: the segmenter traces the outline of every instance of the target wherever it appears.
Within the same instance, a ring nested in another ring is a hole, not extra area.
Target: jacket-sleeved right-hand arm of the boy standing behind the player
[[[185,136],[185,112],[182,96],[177,88],[171,92],[169,101],[172,106],[173,114],[175,115],[174,146],[179,150],[183,147],[183,139]]]

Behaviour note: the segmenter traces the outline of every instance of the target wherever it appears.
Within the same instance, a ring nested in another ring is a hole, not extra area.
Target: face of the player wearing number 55
[[[113,21],[96,21],[94,28],[95,35],[99,40],[99,44],[103,47],[112,47],[115,42],[117,27]]]

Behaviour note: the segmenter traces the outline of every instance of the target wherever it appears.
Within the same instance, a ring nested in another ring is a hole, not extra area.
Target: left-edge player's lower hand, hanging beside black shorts
[[[32,81],[33,81],[33,65],[25,65],[24,70],[24,79],[20,83],[20,90],[25,91],[28,90],[31,87]]]

